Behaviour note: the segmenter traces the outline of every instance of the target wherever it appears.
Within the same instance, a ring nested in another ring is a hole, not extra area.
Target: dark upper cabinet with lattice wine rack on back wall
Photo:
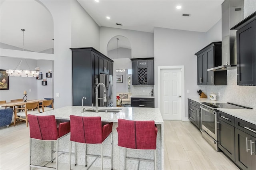
[[[154,85],[154,58],[132,58],[132,85]]]

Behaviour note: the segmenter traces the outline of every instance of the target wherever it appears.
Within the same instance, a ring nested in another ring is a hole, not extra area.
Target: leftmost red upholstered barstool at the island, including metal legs
[[[56,119],[54,115],[51,116],[36,116],[36,115],[28,115],[29,121],[29,131],[30,131],[30,159],[29,159],[29,168],[49,168],[54,169],[48,166],[40,166],[31,164],[31,143],[32,139],[37,140],[46,140],[52,141],[52,160],[48,163],[53,162],[55,158],[53,158],[53,141],[56,141],[56,168],[58,170],[58,144],[59,140],[68,135],[70,132],[70,122],[63,122],[57,125]],[[63,153],[63,152],[62,152]],[[68,152],[67,152],[68,153]],[[47,164],[46,164],[47,165]]]

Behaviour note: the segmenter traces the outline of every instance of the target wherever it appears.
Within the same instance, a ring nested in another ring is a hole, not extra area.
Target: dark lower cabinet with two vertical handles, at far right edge
[[[256,125],[236,118],[236,164],[242,170],[256,169]]]

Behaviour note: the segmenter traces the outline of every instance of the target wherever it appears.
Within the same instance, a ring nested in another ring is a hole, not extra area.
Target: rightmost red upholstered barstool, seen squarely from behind
[[[118,119],[118,146],[124,149],[124,169],[126,170],[126,159],[154,161],[154,169],[156,170],[156,135],[157,127],[154,121],[129,121]],[[136,150],[154,150],[154,159],[132,158],[126,157],[126,149]]]

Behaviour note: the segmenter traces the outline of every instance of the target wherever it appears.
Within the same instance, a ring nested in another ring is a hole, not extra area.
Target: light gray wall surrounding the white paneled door
[[[196,96],[196,53],[206,44],[206,33],[154,28],[155,107],[158,107],[158,66],[185,66],[185,117],[188,117],[188,97]],[[190,90],[190,93],[186,93]]]

